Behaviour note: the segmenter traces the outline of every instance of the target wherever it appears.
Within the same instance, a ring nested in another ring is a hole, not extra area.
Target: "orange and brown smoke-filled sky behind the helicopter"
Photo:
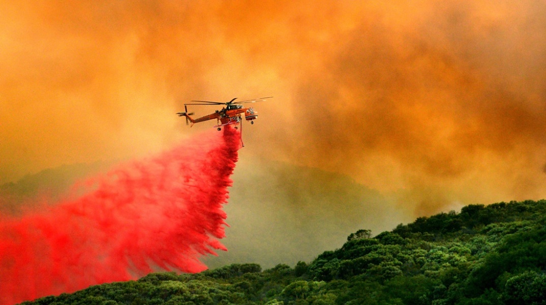
[[[349,177],[411,217],[546,197],[542,0],[1,1],[0,11],[0,184],[145,156],[211,128],[175,116],[188,100],[272,95],[254,106],[241,159]]]

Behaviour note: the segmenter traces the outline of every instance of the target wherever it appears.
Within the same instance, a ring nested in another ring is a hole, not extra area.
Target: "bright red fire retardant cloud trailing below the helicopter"
[[[225,250],[240,133],[200,134],[155,158],[93,178],[46,212],[0,220],[0,303],[73,292],[158,270],[199,272]]]

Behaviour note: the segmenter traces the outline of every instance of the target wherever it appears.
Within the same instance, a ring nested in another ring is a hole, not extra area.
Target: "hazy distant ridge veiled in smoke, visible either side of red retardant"
[[[55,202],[72,186],[112,162],[63,165],[0,185],[0,213],[17,214],[35,198]],[[360,228],[381,232],[410,218],[375,190],[332,172],[258,158],[241,158],[232,176],[228,252],[203,259],[210,268],[254,262],[264,268],[312,260]]]

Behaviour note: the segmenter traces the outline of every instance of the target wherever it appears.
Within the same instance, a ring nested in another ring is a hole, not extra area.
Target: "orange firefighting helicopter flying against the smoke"
[[[245,113],[245,119],[246,121],[250,121],[251,124],[254,124],[254,119],[258,117],[258,112],[254,110],[253,107],[244,107],[241,104],[246,103],[256,103],[257,101],[264,101],[266,99],[269,99],[272,97],[265,97],[265,98],[258,98],[258,99],[249,99],[249,100],[241,100],[241,101],[235,101],[237,98],[234,98],[227,103],[221,103],[219,101],[208,101],[208,100],[192,100],[192,103],[186,103],[184,104],[185,112],[178,112],[176,113],[178,116],[186,117],[186,125],[189,124],[189,122],[193,124],[209,121],[210,119],[216,119],[217,125],[215,126],[218,131],[222,130],[222,127],[225,125],[230,124],[237,124],[242,121],[242,114]],[[225,107],[222,108],[222,110],[216,110],[214,113],[211,113],[210,115],[206,115],[200,118],[192,118],[191,115],[194,113],[188,113],[188,105],[225,105]],[[235,127],[236,129],[237,127]]]

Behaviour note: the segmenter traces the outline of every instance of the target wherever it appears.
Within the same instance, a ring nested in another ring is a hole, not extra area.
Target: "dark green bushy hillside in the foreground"
[[[294,267],[152,273],[23,304],[546,304],[546,200],[470,205]]]

